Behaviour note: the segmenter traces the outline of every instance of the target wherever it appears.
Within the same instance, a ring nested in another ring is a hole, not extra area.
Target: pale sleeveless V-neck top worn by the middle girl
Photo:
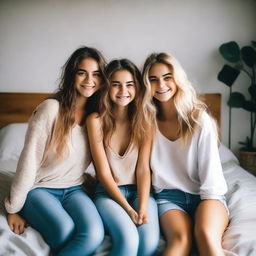
[[[130,143],[121,156],[110,146],[105,148],[109,166],[118,186],[136,184],[135,169],[138,159],[138,147]]]

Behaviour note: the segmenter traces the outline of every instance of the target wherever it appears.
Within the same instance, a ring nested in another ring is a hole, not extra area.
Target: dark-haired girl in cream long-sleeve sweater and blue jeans
[[[23,233],[26,220],[57,255],[91,255],[104,238],[97,209],[81,187],[91,162],[85,118],[97,106],[104,69],[104,58],[94,48],[81,47],[70,56],[58,92],[29,120],[5,200],[11,230]]]

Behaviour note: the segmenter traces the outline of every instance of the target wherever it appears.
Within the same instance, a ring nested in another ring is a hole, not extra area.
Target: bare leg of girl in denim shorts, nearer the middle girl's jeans
[[[160,217],[160,225],[167,246],[164,256],[189,255],[192,245],[192,223],[180,210],[169,210]]]

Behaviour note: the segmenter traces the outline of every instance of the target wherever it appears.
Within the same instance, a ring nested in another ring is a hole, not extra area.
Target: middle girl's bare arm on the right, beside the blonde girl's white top
[[[138,207],[138,224],[144,224],[148,222],[147,216],[147,203],[150,193],[151,186],[151,172],[149,167],[150,152],[152,145],[152,135],[147,132],[147,136],[140,146],[139,157],[136,166],[136,178],[137,178],[137,188],[139,197],[139,207]]]

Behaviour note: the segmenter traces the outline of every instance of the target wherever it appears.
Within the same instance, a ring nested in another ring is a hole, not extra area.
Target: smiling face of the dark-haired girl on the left
[[[83,97],[92,96],[101,84],[101,73],[98,62],[93,58],[82,60],[75,75],[75,88]]]

